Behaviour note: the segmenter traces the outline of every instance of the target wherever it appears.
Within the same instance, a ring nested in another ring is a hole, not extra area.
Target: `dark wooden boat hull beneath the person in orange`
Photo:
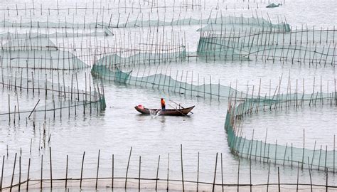
[[[186,116],[189,112],[191,112],[191,110],[193,110],[194,107],[195,106],[181,109],[166,109],[165,111],[161,111],[160,109],[149,109],[139,105],[134,107],[134,109],[136,109],[141,114],[157,114],[160,112],[159,115]]]

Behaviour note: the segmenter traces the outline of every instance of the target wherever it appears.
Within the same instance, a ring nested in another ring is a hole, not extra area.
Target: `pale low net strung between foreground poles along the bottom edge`
[[[112,182],[113,180],[113,182]],[[127,180],[127,186],[125,187],[125,180]],[[66,184],[65,184],[66,183]],[[97,186],[96,186],[97,183]],[[113,184],[112,184],[113,183]],[[80,186],[81,185],[81,186]],[[41,188],[42,186],[42,188]],[[104,186],[104,188],[103,188]],[[25,191],[29,190],[38,190],[47,191],[50,189],[54,190],[65,190],[68,188],[71,190],[83,190],[83,191],[103,191],[108,188],[115,190],[172,190],[172,191],[236,191],[237,189],[240,191],[260,191],[266,190],[268,188],[270,191],[278,191],[282,190],[291,190],[295,191],[296,189],[299,191],[308,191],[312,188],[314,191],[337,191],[337,186],[323,183],[304,183],[303,179],[301,182],[270,182],[267,183],[220,183],[217,181],[216,183],[207,182],[207,181],[197,181],[193,179],[184,179],[181,178],[155,178],[155,177],[92,177],[92,178],[30,178],[27,181],[25,178],[21,179],[20,183],[13,183],[9,186],[4,186],[0,188],[2,191],[13,191],[16,189],[21,189]],[[27,190],[28,189],[28,190]],[[19,190],[20,191],[20,190]]]

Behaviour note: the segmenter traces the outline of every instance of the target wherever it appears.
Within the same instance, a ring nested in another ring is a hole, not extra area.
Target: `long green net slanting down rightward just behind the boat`
[[[146,76],[143,74],[144,76],[139,76],[140,74],[137,74],[137,76],[132,76],[132,71],[123,72],[119,68],[107,70],[105,66],[93,65],[91,73],[93,76],[105,80],[112,80],[114,82],[146,88],[154,88],[158,90],[167,90],[169,92],[176,92],[183,95],[222,100],[227,99],[230,97],[230,94],[235,94],[236,92],[242,97],[247,97],[245,93],[237,92],[232,87],[220,85],[219,83],[212,83],[211,78],[209,79],[209,84],[206,84],[208,82],[205,82],[205,78],[200,79],[200,81],[198,79],[198,85],[193,85],[192,82],[187,82],[187,78],[186,81],[183,81],[182,76],[181,80],[176,80],[178,78],[178,74],[175,79],[170,75],[167,75],[167,70],[166,75],[162,74],[163,71],[161,71],[161,73],[156,72],[154,75]]]

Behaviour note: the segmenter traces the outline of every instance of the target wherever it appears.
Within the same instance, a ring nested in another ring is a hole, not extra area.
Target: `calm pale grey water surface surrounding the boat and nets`
[[[142,1],[141,1],[142,2]],[[201,1],[201,4],[204,4]],[[60,8],[67,9],[68,7],[92,6],[92,1],[59,1]],[[158,2],[162,5],[163,2]],[[283,4],[284,2],[282,2]],[[26,14],[24,10],[19,11],[18,16],[16,10],[10,11],[8,16],[7,7],[9,9],[15,9],[15,4],[18,4],[19,8],[24,9],[24,4],[16,1],[4,1],[0,8],[3,18],[6,16],[6,20],[9,21],[46,21],[48,15],[48,9],[43,11],[43,16],[38,10],[41,4],[43,8],[56,7],[56,1],[34,1],[36,7],[35,13],[29,11]],[[138,2],[134,3],[134,6]],[[166,2],[166,6],[173,3]],[[178,2],[176,2],[177,6]],[[181,3],[179,3],[181,4]],[[250,4],[250,9],[248,9]],[[255,11],[257,8],[259,9]],[[208,18],[210,11],[212,16],[216,16],[214,9],[218,6],[218,10],[223,10],[223,15],[243,15],[252,16],[258,15],[267,18],[269,13],[272,21],[277,22],[277,19],[284,20],[284,16],[287,18],[287,22],[291,26],[308,25],[309,27],[315,26],[315,28],[333,28],[336,26],[336,1],[285,1],[285,4],[277,9],[265,9],[263,8],[267,2],[257,1],[255,2],[242,2],[242,1],[225,1],[219,3],[218,1],[207,2],[207,7],[203,7],[202,10],[194,10],[181,12],[181,18],[192,16],[193,18]],[[26,1],[26,6],[32,6],[31,1]],[[132,9],[125,11],[122,9],[124,5],[121,3],[119,6],[117,1],[97,1],[95,7],[111,8],[119,7],[118,11],[121,13],[121,23],[127,20],[127,16]],[[147,2],[142,6],[145,11],[144,19],[148,19],[148,12],[151,11],[151,4]],[[228,9],[226,9],[226,7]],[[253,9],[252,9],[253,8]],[[180,9],[180,8],[179,8]],[[166,10],[166,14],[161,14],[163,9],[154,11],[150,14],[151,19],[161,18],[166,21],[171,21],[172,16],[178,18],[180,12],[178,8],[175,10],[177,14],[173,14],[172,11]],[[178,11],[179,10],[179,11]],[[115,10],[103,13],[99,9],[98,18],[105,22],[109,22],[109,16],[112,14],[112,23],[117,23],[118,14]],[[96,12],[92,14],[92,11],[87,11],[86,22],[95,22]],[[138,12],[136,9],[134,13],[130,14],[129,21],[133,21],[137,18]],[[84,11],[78,11],[77,15],[74,15],[75,11],[68,10],[60,11],[58,16],[57,11],[51,11],[48,15],[48,21],[65,21],[65,18],[69,22],[83,22]],[[303,13],[307,14],[303,14]],[[218,16],[220,12],[218,11]],[[74,18],[74,19],[73,19]],[[73,21],[74,20],[74,21]],[[177,33],[185,33],[186,41],[188,43],[188,51],[196,51],[198,43],[199,33],[196,31],[201,26],[174,26],[167,27],[167,33],[176,31]],[[24,29],[20,29],[24,30]],[[28,29],[29,30],[29,29]],[[52,31],[53,29],[50,29]],[[159,28],[159,31],[161,28]],[[0,31],[16,31],[15,28],[0,28]],[[113,37],[98,37],[90,38],[86,37],[87,41],[97,41],[96,45],[101,43],[107,43],[115,46],[119,40],[132,37],[134,34],[140,33],[141,29],[127,28],[127,29],[114,29],[116,36]],[[144,34],[149,31],[148,28],[144,28]],[[126,37],[124,37],[124,35]],[[169,35],[168,35],[169,36]],[[181,35],[183,36],[183,35]],[[56,43],[56,39],[51,39]],[[59,39],[60,40],[60,39]],[[69,38],[69,41],[62,42],[57,41],[57,44],[72,45],[75,43],[80,45],[80,38]],[[73,42],[73,43],[72,43]],[[116,46],[120,46],[117,43]],[[77,52],[78,53],[78,52]],[[90,61],[91,62],[91,61]],[[155,73],[157,66],[150,65],[146,68],[141,67],[142,70],[151,70],[151,73]],[[287,92],[287,84],[290,77],[290,83],[292,90],[296,87],[296,79],[299,80],[299,85],[302,85],[303,79],[305,79],[306,92],[312,91],[314,84],[314,78],[316,80],[315,85],[326,88],[333,87],[333,80],[336,78],[336,69],[331,66],[309,66],[308,64],[299,65],[290,63],[271,63],[264,61],[257,62],[205,62],[203,60],[195,60],[195,58],[183,62],[183,63],[167,63],[166,65],[159,65],[159,70],[166,70],[168,68],[172,71],[173,76],[176,76],[176,70],[178,74],[181,71],[188,71],[188,82],[196,83],[196,74],[200,74],[200,78],[206,78],[208,80],[209,75],[212,76],[212,80],[215,83],[222,85],[232,85],[234,87],[237,82],[237,89],[246,91],[247,85],[249,90],[252,90],[252,86],[258,87],[262,85],[262,92],[269,92],[269,86],[276,87],[279,85],[279,78],[282,77],[282,92]],[[193,71],[193,78],[191,73]],[[50,75],[48,70],[36,70],[36,73],[40,73],[41,76],[45,73]],[[66,72],[68,73],[68,72]],[[89,73],[88,70],[77,71],[78,78],[80,80],[80,87],[84,87],[82,81],[85,77],[85,73]],[[184,73],[184,75],[186,75]],[[14,74],[14,73],[12,73]],[[141,73],[142,74],[142,73]],[[136,75],[135,72],[132,75]],[[54,73],[55,77],[55,73]],[[179,76],[180,77],[180,76]],[[186,77],[186,76],[184,76]],[[49,76],[50,79],[50,76]],[[179,79],[179,78],[178,78]],[[321,80],[322,79],[322,80]],[[70,75],[65,76],[65,80],[70,80]],[[130,148],[132,147],[132,156],[129,165],[129,176],[138,176],[138,164],[139,156],[141,156],[141,170],[143,176],[155,177],[156,166],[159,155],[161,156],[159,166],[159,178],[166,178],[167,174],[167,161],[168,154],[170,156],[170,177],[180,179],[181,177],[181,164],[180,164],[180,145],[183,145],[183,161],[184,161],[184,174],[186,179],[196,180],[196,170],[198,161],[198,152],[200,153],[200,181],[213,181],[215,155],[218,152],[223,155],[223,169],[225,183],[237,182],[237,166],[238,159],[233,156],[228,149],[227,134],[224,130],[225,114],[228,108],[227,100],[204,100],[202,98],[191,97],[188,95],[176,95],[172,92],[161,92],[160,90],[143,89],[141,87],[134,87],[132,85],[119,85],[114,82],[102,82],[105,87],[105,100],[107,101],[107,109],[105,112],[99,114],[77,114],[76,117],[71,115],[63,117],[62,120],[56,118],[55,121],[48,119],[46,123],[46,137],[43,137],[43,122],[39,121],[36,128],[33,129],[31,121],[21,120],[19,124],[14,126],[9,125],[6,117],[1,117],[0,127],[0,154],[7,154],[7,147],[9,156],[6,155],[5,167],[4,167],[4,183],[6,186],[11,181],[11,171],[13,169],[14,154],[20,153],[22,150],[22,169],[26,173],[26,167],[28,165],[28,158],[31,158],[31,178],[39,178],[41,170],[41,154],[43,154],[43,175],[46,178],[49,177],[48,161],[50,146],[53,150],[53,177],[62,178],[65,176],[65,158],[69,156],[69,176],[78,178],[80,176],[80,165],[82,162],[82,154],[85,151],[85,169],[83,177],[95,177],[97,166],[97,154],[100,149],[100,176],[111,175],[111,161],[112,154],[114,154],[114,166],[115,176],[125,176],[125,169],[127,167],[127,160],[129,156]],[[269,85],[270,83],[270,85]],[[1,90],[0,98],[0,113],[7,112],[7,97],[11,95],[12,105],[15,105],[16,96],[11,90]],[[193,115],[190,117],[151,117],[140,115],[134,110],[135,105],[144,105],[146,107],[159,107],[160,97],[165,97],[168,107],[175,106],[173,102],[181,103],[184,107],[196,105],[193,110]],[[38,97],[31,97],[24,92],[19,96],[19,102],[22,108],[27,110],[31,109],[37,102]],[[26,117],[28,114],[23,115]],[[24,118],[23,118],[24,119]],[[272,112],[264,112],[260,114],[253,114],[251,117],[245,119],[242,132],[251,137],[252,129],[255,130],[255,136],[258,139],[265,137],[266,129],[268,128],[268,141],[274,143],[277,139],[279,144],[286,144],[287,142],[293,142],[296,145],[301,146],[303,142],[303,129],[306,133],[306,146],[311,148],[316,140],[321,145],[332,146],[333,135],[336,134],[336,122],[337,114],[336,107],[326,106],[323,107],[303,107],[298,110],[278,110]],[[50,137],[50,143],[48,144],[48,135]],[[31,147],[32,144],[32,147]],[[46,144],[46,149],[43,147]],[[42,148],[41,148],[42,147]],[[32,149],[30,153],[30,148]],[[220,166],[220,164],[218,164]],[[220,169],[217,172],[217,181],[220,183]],[[252,182],[253,183],[266,183],[267,182],[268,165],[260,162],[252,162]],[[16,175],[18,169],[16,169]],[[240,161],[240,183],[248,183],[249,177],[249,162],[246,159]],[[280,166],[280,174],[282,175],[282,181],[295,182],[296,181],[296,168]],[[309,183],[309,171],[304,169],[300,171],[301,179],[303,183]],[[325,174],[321,171],[313,171],[312,176],[315,183],[325,183]],[[277,182],[277,166],[271,166],[271,181]],[[18,177],[15,177],[14,182],[18,181]],[[331,174],[329,176],[329,183],[336,185],[336,178]],[[104,191],[104,189],[102,189]]]

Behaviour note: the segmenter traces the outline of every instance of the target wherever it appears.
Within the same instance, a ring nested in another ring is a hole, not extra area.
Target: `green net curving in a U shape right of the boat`
[[[305,169],[316,168],[324,171],[335,171],[336,168],[336,149],[328,150],[328,146],[325,149],[305,149],[299,147],[293,147],[292,143],[289,146],[281,144],[269,144],[252,139],[248,139],[242,136],[239,130],[239,124],[244,121],[246,115],[252,114],[252,112],[264,112],[266,110],[277,110],[282,107],[301,107],[303,105],[331,105],[337,107],[337,92],[336,92],[336,80],[335,90],[331,94],[323,92],[314,92],[311,94],[297,94],[289,95],[287,98],[282,98],[282,95],[277,97],[267,98],[258,97],[255,99],[245,98],[244,100],[237,98],[230,98],[228,105],[228,112],[225,119],[225,130],[228,134],[228,145],[232,151],[232,154],[241,156],[247,159],[255,159],[257,161],[270,161],[273,164],[289,165],[289,166],[301,166]]]

